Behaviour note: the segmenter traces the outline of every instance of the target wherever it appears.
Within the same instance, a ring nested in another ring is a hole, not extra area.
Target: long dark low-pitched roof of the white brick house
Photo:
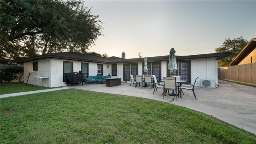
[[[217,57],[218,60],[225,58],[226,56],[230,56],[231,52],[221,52],[221,53],[212,53],[212,54],[198,54],[198,55],[190,55],[190,56],[176,56],[176,60],[186,60],[186,59],[193,59],[193,58],[211,58]],[[122,59],[116,56],[112,56],[109,58],[102,58],[99,56],[92,56],[88,54],[81,54],[76,52],[58,52],[58,53],[48,53],[42,54],[40,56],[35,56],[32,58],[27,58],[24,60],[18,61],[18,63],[23,62],[30,62],[34,60],[40,60],[45,58],[60,58],[66,60],[80,60],[80,61],[88,61],[88,62],[100,62],[100,63],[128,63],[128,62],[144,62],[144,58],[129,58],[129,59]],[[154,56],[154,57],[147,57],[148,62],[150,61],[168,61],[169,55],[167,56]]]

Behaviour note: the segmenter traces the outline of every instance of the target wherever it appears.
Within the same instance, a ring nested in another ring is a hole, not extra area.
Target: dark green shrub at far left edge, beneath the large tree
[[[23,68],[16,66],[15,64],[10,65],[9,67],[3,68],[0,72],[1,82],[11,82],[18,78],[17,74],[23,71]]]

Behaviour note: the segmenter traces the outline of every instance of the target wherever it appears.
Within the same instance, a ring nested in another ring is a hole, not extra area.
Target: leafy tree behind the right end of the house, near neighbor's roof
[[[247,43],[248,40],[243,39],[242,36],[240,38],[225,39],[223,44],[219,48],[215,49],[215,52],[232,52],[232,54],[226,58],[218,60],[218,67],[228,66],[228,64],[232,62],[232,60],[246,46]]]

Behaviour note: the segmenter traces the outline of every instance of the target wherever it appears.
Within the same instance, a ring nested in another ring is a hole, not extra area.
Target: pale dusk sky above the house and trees
[[[143,58],[214,53],[225,38],[256,38],[256,1],[85,1],[104,22],[90,51]]]

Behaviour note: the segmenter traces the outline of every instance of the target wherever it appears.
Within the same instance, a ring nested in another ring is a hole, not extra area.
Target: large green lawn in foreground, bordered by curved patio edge
[[[1,144],[255,144],[205,114],[143,98],[67,89],[0,101]]]

